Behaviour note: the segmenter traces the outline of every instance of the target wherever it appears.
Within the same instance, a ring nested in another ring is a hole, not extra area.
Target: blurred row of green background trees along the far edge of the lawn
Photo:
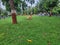
[[[8,11],[10,10],[10,5],[7,4],[9,2],[9,0],[2,0],[3,4],[6,6],[6,9]],[[26,1],[29,2],[31,4],[31,6],[27,6]],[[58,3],[59,0],[39,0],[38,3],[36,4],[35,7],[32,7],[32,5],[35,3],[35,0],[14,0],[14,5],[15,5],[15,9],[17,11],[17,13],[20,14],[28,14],[29,12],[32,13],[40,13],[40,12],[50,12],[52,11],[53,13],[57,12],[57,10],[55,10],[56,8],[59,8]],[[59,9],[58,9],[59,12]]]

